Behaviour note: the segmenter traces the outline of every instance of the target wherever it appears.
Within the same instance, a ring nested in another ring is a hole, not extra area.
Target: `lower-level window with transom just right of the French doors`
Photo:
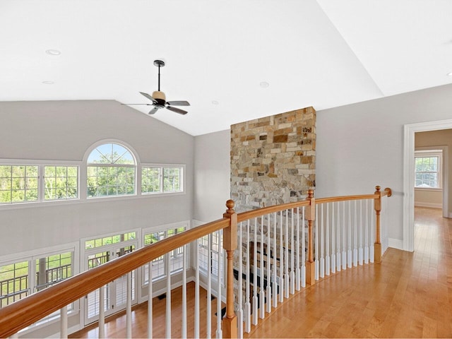
[[[186,227],[177,227],[177,228],[170,228],[166,231],[159,231],[159,232],[153,232],[153,233],[145,233],[144,234],[144,245],[148,246],[150,244],[155,244],[156,242],[159,242],[162,239],[165,239],[167,237],[172,237],[175,234],[179,234],[181,232],[184,232],[186,230]],[[174,251],[171,251],[169,254],[169,270],[171,273],[179,272],[184,268],[184,247],[179,247],[178,249],[174,249]],[[153,270],[153,280],[157,280],[159,278],[162,278],[166,275],[165,272],[165,257],[160,256],[158,258],[155,258],[152,262],[152,270]],[[144,266],[145,273],[143,274],[143,283],[148,283],[148,265]]]

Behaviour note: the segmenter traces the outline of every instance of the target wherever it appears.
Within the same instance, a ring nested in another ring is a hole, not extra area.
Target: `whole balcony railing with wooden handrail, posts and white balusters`
[[[218,252],[225,264],[225,316],[217,317],[217,338],[241,338],[244,331],[251,331],[278,304],[301,290],[307,284],[338,273],[353,266],[381,261],[381,215],[384,196],[391,196],[391,189],[381,191],[376,186],[374,194],[314,198],[309,191],[306,201],[270,206],[244,213],[235,213],[234,202],[227,201],[223,218],[208,222],[160,242],[137,249],[113,261],[68,278],[61,283],[20,299],[0,309],[0,337],[15,335],[42,317],[61,310],[60,337],[67,336],[66,305],[98,290],[103,305],[104,285],[127,276],[126,336],[131,338],[131,272],[147,265],[155,258],[165,257],[169,271],[169,255],[188,244],[196,244],[208,234],[215,234],[215,244],[223,244]],[[209,239],[213,237],[208,237]],[[213,243],[208,242],[208,251]],[[193,333],[199,337],[199,259],[195,252],[195,309]],[[183,251],[182,316],[179,326],[182,338],[187,337],[186,309],[186,251]],[[207,261],[207,293],[222,297],[221,269],[212,270]],[[221,266],[220,266],[221,268]],[[213,273],[214,272],[214,273]],[[217,273],[217,274],[215,274]],[[152,270],[148,270],[152,281]],[[153,284],[148,284],[148,297],[152,298]],[[177,324],[171,316],[171,275],[167,275],[166,337]],[[224,297],[224,296],[223,296]],[[153,335],[152,302],[148,302],[148,337]],[[221,302],[216,302],[217,314],[222,314]],[[105,336],[103,307],[99,307],[99,336]],[[208,304],[207,336],[212,324]]]

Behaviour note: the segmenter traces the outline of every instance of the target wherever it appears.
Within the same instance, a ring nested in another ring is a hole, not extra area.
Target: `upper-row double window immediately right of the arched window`
[[[182,192],[182,166],[141,168],[141,193],[174,193]]]

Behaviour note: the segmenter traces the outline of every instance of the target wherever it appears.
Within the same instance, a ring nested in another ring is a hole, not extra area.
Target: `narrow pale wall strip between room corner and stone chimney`
[[[230,199],[230,130],[195,137],[194,219],[222,218]]]

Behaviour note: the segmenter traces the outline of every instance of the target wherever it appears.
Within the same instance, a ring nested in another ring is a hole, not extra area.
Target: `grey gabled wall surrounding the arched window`
[[[0,207],[0,256],[193,217],[194,137],[153,117],[113,100],[0,102],[0,126],[2,159],[81,161],[90,145],[113,138],[141,162],[186,164],[183,195]]]

